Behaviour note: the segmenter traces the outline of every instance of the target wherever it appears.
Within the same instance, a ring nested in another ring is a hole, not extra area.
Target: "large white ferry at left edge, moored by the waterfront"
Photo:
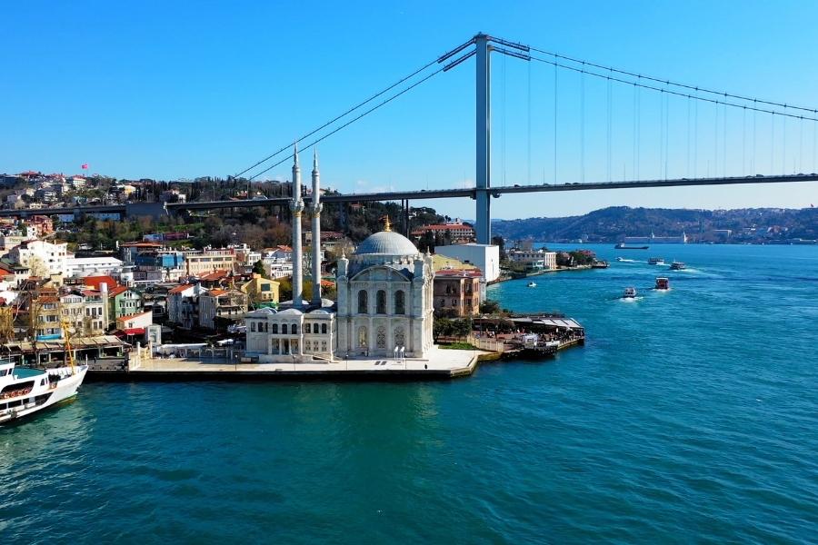
[[[74,397],[86,372],[87,365],[41,370],[0,362],[0,425]]]

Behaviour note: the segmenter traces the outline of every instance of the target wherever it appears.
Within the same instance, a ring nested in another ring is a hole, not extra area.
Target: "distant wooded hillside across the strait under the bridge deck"
[[[818,239],[814,208],[685,210],[612,206],[580,216],[496,220],[492,231],[508,240],[611,243],[625,236],[678,236],[702,242],[783,242]],[[729,231],[730,233],[727,233]]]

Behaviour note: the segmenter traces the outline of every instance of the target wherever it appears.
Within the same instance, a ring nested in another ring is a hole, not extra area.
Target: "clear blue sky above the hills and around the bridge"
[[[643,74],[818,107],[812,2],[636,3],[5,2],[0,172],[117,177],[236,173],[478,31]],[[730,111],[727,138],[700,104],[560,72],[560,182],[693,173],[818,172],[814,124]],[[554,180],[554,68],[494,55],[494,184]],[[723,115],[723,113],[719,113]],[[756,124],[755,154],[752,127]],[[529,123],[531,125],[529,137]],[[803,131],[803,132],[802,132]],[[580,135],[584,132],[584,140]],[[608,140],[611,141],[610,169]],[[583,144],[584,142],[584,144]],[[771,143],[774,147],[771,148]],[[584,149],[584,160],[581,160]],[[529,151],[530,150],[530,151]],[[694,150],[694,151],[692,151]],[[726,154],[725,154],[726,152]],[[322,179],[344,193],[474,183],[474,61],[434,76],[320,146]],[[696,161],[689,157],[696,157]],[[726,160],[725,160],[726,156]],[[772,162],[772,166],[771,166]],[[693,163],[693,164],[692,164]],[[289,165],[270,177],[287,178]],[[818,184],[504,196],[494,217],[608,205],[803,207]],[[474,217],[466,200],[430,202]]]

